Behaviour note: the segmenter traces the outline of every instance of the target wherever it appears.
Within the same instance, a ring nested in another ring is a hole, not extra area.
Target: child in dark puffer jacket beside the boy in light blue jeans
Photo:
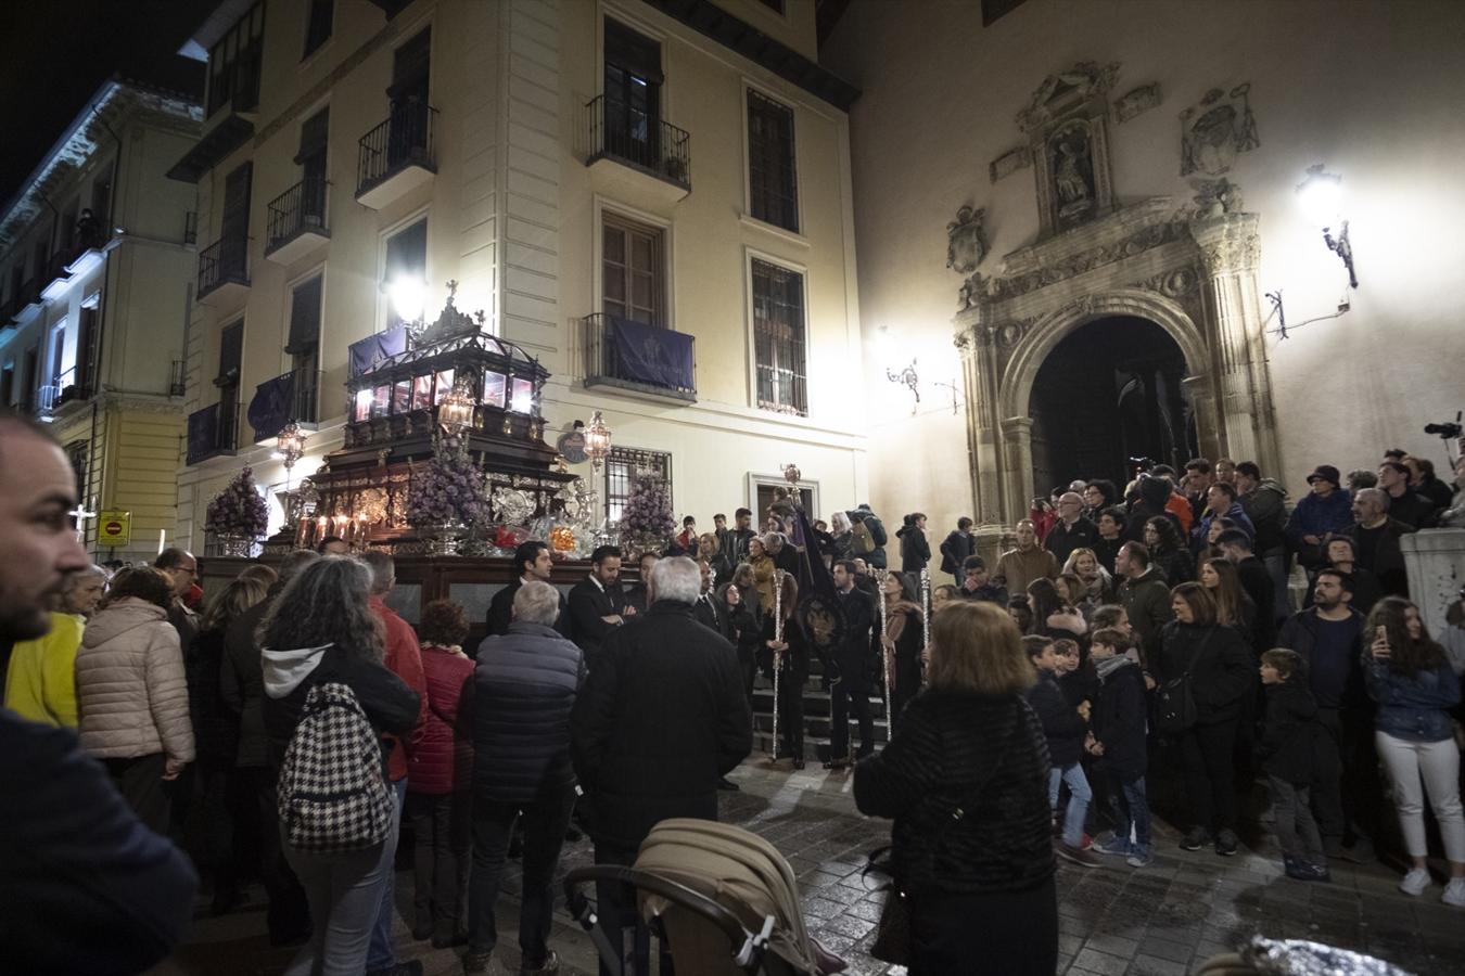
[[[1093,732],[1086,748],[1103,762],[1113,808],[1113,837],[1094,844],[1100,855],[1122,856],[1131,868],[1149,866],[1150,802],[1144,792],[1144,675],[1125,651],[1131,639],[1124,631],[1102,628],[1088,644],[1088,660],[1099,675],[1099,698],[1093,710]]]

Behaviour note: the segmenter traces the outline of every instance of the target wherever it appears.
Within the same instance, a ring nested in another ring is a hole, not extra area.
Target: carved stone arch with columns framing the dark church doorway
[[[1187,364],[1200,449],[1280,467],[1258,304],[1257,217],[1193,219],[1168,198],[1119,209],[974,275],[954,320],[967,386],[973,509],[990,550],[1033,498],[1028,401],[1071,332],[1106,316],[1163,328]]]

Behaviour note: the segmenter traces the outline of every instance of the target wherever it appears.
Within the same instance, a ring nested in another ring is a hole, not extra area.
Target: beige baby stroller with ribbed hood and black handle
[[[684,976],[829,976],[847,966],[804,928],[788,862],[740,827],[665,819],[642,843],[634,868],[579,868],[565,875],[570,915],[590,934],[605,966],[624,972],[618,948],[580,891],[596,881],[636,888],[642,917]]]

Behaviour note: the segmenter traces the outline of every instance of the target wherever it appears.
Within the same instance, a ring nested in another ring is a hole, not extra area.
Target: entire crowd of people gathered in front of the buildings
[[[16,787],[0,884],[38,893],[16,944],[29,972],[122,972],[94,963],[129,929],[146,966],[201,875],[215,913],[264,882],[271,941],[299,945],[292,976],[420,973],[393,936],[403,821],[413,939],[463,947],[467,973],[502,970],[497,901],[519,857],[517,972],[558,972],[565,840],[583,830],[595,863],[631,865],[659,821],[715,819],[753,748],[760,673],[776,676],[774,761],[795,768],[806,686],[828,688],[823,765],[853,765],[858,809],[895,821],[892,900],[910,907],[917,976],[971,972],[973,926],[983,972],[1052,973],[1055,857],[1143,869],[1151,811],[1182,827],[1181,849],[1232,856],[1260,812],[1254,784],[1289,876],[1323,882],[1330,860],[1392,844],[1411,896],[1431,884],[1428,805],[1442,900],[1465,906],[1465,591],[1436,641],[1398,543],[1465,505],[1461,490],[1431,499],[1412,458],[1386,457],[1377,487],[1318,465],[1292,508],[1251,462],[1074,483],[1034,500],[990,569],[968,518],[933,549],[923,514],[892,537],[869,505],[809,522],[787,495],[762,531],[746,508],[711,533],[686,518],[628,585],[623,552],[602,546],[561,593],[548,546],[529,541],[467,648],[463,606],[431,601],[409,625],[390,606],[391,555],[335,538],[251,565],[207,601],[185,550],[91,566],[64,455],[22,420],[0,418],[0,438]],[[951,582],[932,587],[933,571]],[[832,635],[797,612],[822,585]],[[894,735],[876,751],[882,695]],[[617,951],[648,972],[634,891],[596,896]]]

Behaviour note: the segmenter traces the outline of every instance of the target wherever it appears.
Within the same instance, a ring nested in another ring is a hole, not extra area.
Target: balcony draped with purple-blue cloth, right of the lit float
[[[583,319],[585,385],[697,402],[696,338],[614,315]]]

